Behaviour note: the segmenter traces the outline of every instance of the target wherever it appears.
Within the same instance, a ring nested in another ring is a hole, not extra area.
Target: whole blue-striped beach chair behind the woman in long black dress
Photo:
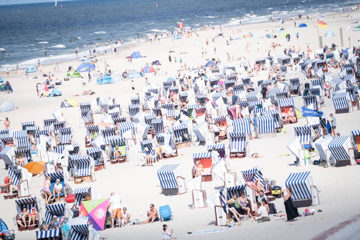
[[[285,181],[285,186],[291,188],[294,207],[310,207],[320,204],[319,190],[312,182],[310,171],[291,173]]]

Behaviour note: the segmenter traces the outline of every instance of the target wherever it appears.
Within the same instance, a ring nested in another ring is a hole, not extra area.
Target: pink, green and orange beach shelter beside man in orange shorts
[[[79,210],[79,217],[88,217],[88,223],[95,230],[104,230],[105,217],[109,198],[98,200],[82,201]],[[121,210],[121,209],[120,209]]]

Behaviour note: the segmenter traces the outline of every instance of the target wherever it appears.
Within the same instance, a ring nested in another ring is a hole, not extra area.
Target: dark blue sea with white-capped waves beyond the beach
[[[0,71],[41,63],[53,63],[88,54],[88,44],[139,37],[175,30],[179,22],[198,28],[224,27],[269,21],[277,16],[334,12],[355,0],[76,0],[0,5]],[[326,14],[325,14],[326,19]],[[298,21],[300,24],[301,21]],[[85,48],[84,48],[84,45]],[[46,56],[44,54],[46,50]]]

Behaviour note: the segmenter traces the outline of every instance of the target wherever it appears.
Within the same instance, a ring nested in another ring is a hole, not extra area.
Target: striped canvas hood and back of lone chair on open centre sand
[[[162,189],[177,188],[175,175],[179,168],[181,168],[180,164],[166,164],[157,171]]]

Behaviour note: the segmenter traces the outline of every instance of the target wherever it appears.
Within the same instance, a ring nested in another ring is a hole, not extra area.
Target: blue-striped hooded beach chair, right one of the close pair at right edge
[[[333,165],[335,167],[356,164],[350,136],[334,137],[330,141],[328,148],[334,159]]]

